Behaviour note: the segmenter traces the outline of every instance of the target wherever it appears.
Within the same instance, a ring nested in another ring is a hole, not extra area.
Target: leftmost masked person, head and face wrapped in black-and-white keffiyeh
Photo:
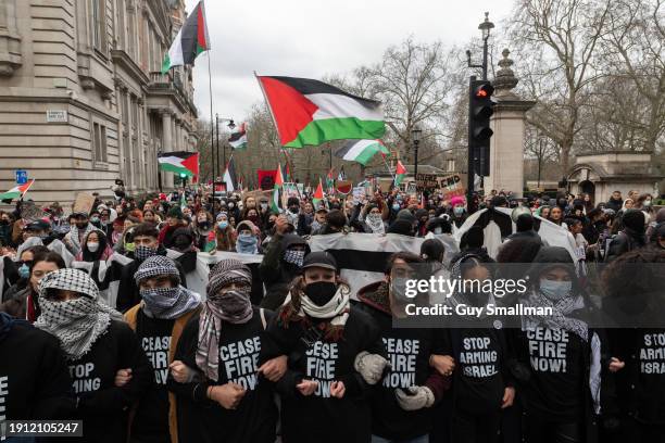
[[[59,339],[76,395],[74,417],[85,421],[80,442],[126,440],[129,408],[147,392],[151,369],[122,315],[99,302],[97,286],[81,270],[60,269],[39,284],[41,315],[35,324]],[[116,385],[120,370],[130,379]]]

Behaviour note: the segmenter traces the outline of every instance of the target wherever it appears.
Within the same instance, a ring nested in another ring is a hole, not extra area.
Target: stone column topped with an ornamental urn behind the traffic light
[[[499,62],[501,68],[494,79],[494,114],[491,117],[491,128],[494,135],[490,141],[490,175],[485,178],[485,192],[492,189],[513,191],[522,197],[524,189],[524,136],[526,112],[536,102],[523,100],[512,92],[517,86],[517,78],[509,59],[510,51],[504,49],[503,59]]]

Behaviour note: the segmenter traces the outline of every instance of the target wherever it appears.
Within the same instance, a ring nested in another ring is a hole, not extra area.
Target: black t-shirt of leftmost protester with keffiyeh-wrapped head
[[[115,387],[118,369],[131,368],[131,380]],[[127,324],[111,320],[109,329],[83,357],[70,362],[70,376],[79,397],[81,442],[122,442],[127,433],[127,412],[150,389],[153,372],[141,345]]]

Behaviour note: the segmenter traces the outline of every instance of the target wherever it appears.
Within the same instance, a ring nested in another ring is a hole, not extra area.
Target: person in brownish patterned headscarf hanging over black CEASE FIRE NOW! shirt
[[[208,298],[178,342],[168,389],[176,394],[178,441],[275,441],[277,408],[271,380],[286,357],[259,366],[273,314],[250,302],[251,273],[223,260],[210,273]]]

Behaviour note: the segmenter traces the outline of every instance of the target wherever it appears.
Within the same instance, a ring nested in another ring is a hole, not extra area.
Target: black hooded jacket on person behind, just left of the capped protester
[[[265,296],[261,301],[261,307],[276,311],[289,292],[289,284],[298,275],[300,269],[284,261],[284,252],[296,244],[305,246],[305,255],[310,246],[303,238],[294,233],[275,233],[265,249],[263,261],[259,265],[261,279],[265,284]]]

